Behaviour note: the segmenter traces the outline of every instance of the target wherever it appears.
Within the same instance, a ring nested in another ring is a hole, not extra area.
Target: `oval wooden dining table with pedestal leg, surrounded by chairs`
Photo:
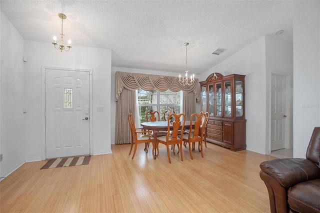
[[[173,129],[172,123],[169,123],[170,130]],[[159,147],[158,142],[156,140],[157,134],[159,131],[167,131],[168,130],[168,121],[150,121],[150,122],[142,122],[141,126],[143,129],[152,130],[154,141],[152,142],[152,156],[155,159],[159,155]],[[182,126],[182,122],[180,125],[180,129]],[[192,126],[194,126],[194,121],[192,121]],[[184,129],[190,128],[190,120],[185,120]]]

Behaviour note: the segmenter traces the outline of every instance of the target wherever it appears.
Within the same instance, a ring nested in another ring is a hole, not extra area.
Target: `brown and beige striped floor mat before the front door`
[[[49,159],[40,169],[89,164],[91,156]]]

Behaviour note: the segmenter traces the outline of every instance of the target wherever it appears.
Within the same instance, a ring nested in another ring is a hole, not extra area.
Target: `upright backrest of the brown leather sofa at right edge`
[[[314,127],[305,156],[320,165],[320,127]]]

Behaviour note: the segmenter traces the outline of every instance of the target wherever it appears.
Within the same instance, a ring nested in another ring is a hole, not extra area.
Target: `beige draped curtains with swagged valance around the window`
[[[195,83],[192,85],[182,86],[178,82],[178,77],[119,71],[115,72],[115,101],[117,101],[115,118],[115,144],[131,142],[127,113],[131,112],[135,115],[136,89],[141,88],[145,91],[150,91],[152,89],[159,91],[170,90],[173,92],[182,90],[184,93],[186,93],[183,95],[183,110],[186,111],[186,108],[188,108],[187,113],[190,113],[190,111],[195,111],[195,100],[199,99],[200,97],[200,84],[198,83],[197,78],[194,80]],[[187,93],[190,94],[187,95]],[[193,99],[190,96],[193,96]],[[190,106],[192,103],[189,101],[193,102],[194,106]],[[188,115],[188,117],[190,117],[190,115]]]

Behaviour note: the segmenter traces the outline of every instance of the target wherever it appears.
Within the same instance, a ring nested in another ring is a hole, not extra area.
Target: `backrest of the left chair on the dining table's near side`
[[[170,117],[173,117],[173,122],[170,123]],[[184,128],[184,123],[185,123],[185,114],[180,113],[180,114],[169,114],[168,115],[168,129],[166,133],[166,140],[169,141],[169,135],[171,136],[170,141],[171,142],[178,142],[182,141],[182,134],[183,134],[183,128]],[[182,125],[181,125],[182,123]],[[172,125],[173,129],[170,129],[170,125]],[[181,131],[179,131],[181,129]],[[180,134],[180,135],[179,135]]]

